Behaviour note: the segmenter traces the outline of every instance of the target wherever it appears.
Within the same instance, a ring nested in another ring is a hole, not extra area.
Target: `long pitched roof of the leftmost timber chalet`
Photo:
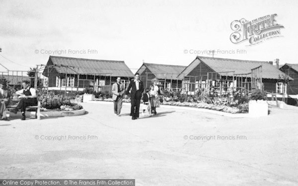
[[[100,74],[109,76],[112,73],[112,76],[121,76],[121,77],[132,77],[134,76],[133,72],[128,68],[124,61],[110,61],[110,60],[90,60],[90,59],[81,59],[81,58],[68,58],[68,57],[57,57],[50,56],[49,62],[53,62],[54,65],[69,65],[74,66],[74,70],[68,69],[66,67],[57,67],[56,70],[58,73],[69,73],[69,74]],[[46,69],[45,69],[46,70]],[[44,70],[44,75],[46,71]]]

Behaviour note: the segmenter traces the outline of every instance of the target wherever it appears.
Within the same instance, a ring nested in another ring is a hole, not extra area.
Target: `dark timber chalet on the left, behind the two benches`
[[[134,76],[124,61],[90,60],[50,56],[43,75],[48,77],[49,90],[111,92],[111,84],[121,77],[127,84]]]

